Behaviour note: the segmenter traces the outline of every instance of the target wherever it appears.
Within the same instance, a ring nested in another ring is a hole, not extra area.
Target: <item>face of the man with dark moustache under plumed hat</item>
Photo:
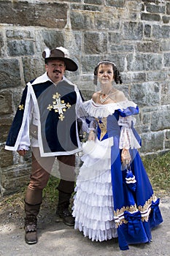
[[[66,65],[64,61],[55,59],[48,61],[48,63],[45,64],[45,69],[50,80],[52,80],[53,83],[58,83],[63,78],[63,74],[66,70]]]

